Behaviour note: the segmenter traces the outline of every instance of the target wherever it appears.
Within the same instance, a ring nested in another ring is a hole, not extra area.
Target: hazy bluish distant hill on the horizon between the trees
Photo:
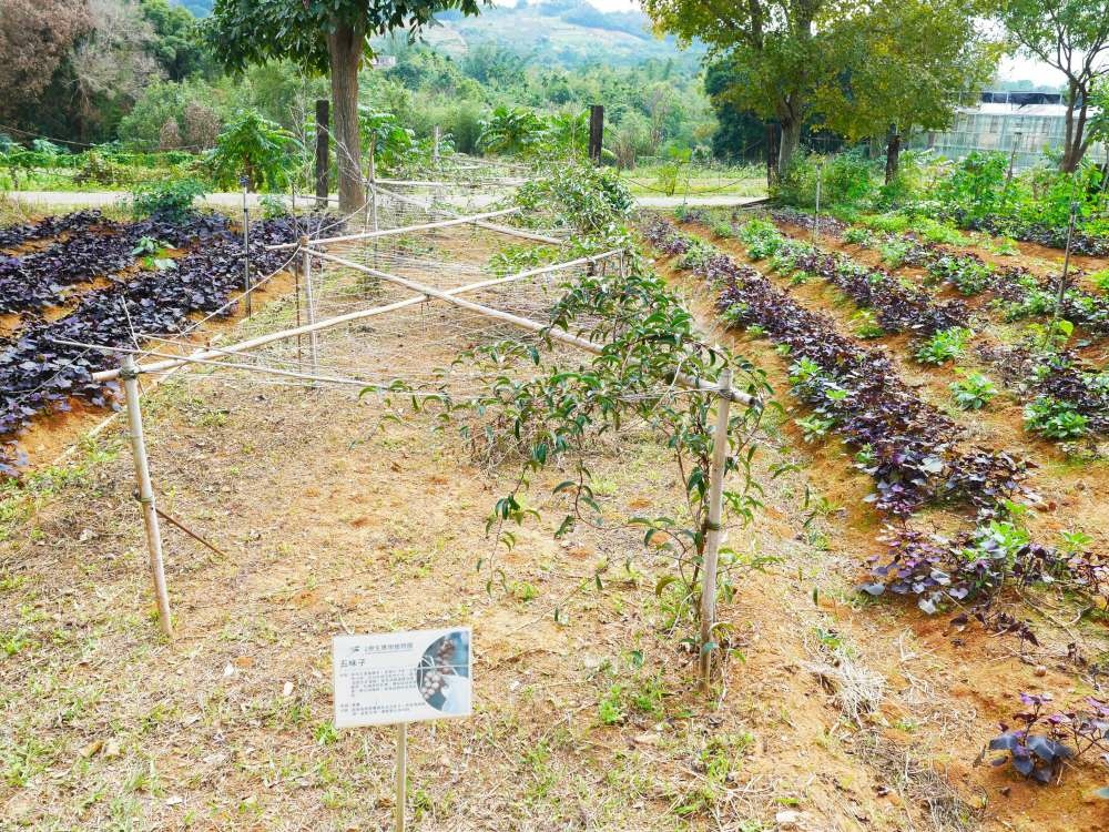
[[[212,10],[212,0],[176,2],[199,17]],[[492,6],[476,18],[447,11],[438,20],[441,26],[427,29],[424,40],[455,57],[477,43],[497,43],[537,62],[566,67],[594,61],[632,64],[651,58],[692,63],[704,51],[694,45],[682,52],[673,38],[655,38],[650,19],[641,11],[606,12],[586,0]]]

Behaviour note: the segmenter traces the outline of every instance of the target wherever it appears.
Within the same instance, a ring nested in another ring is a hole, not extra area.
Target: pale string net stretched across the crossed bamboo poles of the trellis
[[[376,204],[372,200],[364,210],[345,217],[342,225],[324,223],[313,239],[357,234],[375,227],[379,231],[404,229],[442,220],[446,215],[448,212],[441,209],[421,206],[411,199],[378,193]],[[500,221],[497,217],[490,222],[499,224]],[[506,246],[520,255],[516,258],[519,265],[506,262]],[[248,352],[208,357],[206,361],[211,363],[190,365],[187,372],[179,374],[179,377],[191,384],[202,384],[218,373],[225,384],[328,387],[346,396],[365,396],[363,388],[372,387],[375,395],[383,399],[387,398],[385,392],[389,388],[403,387],[417,398],[445,394],[458,402],[472,400],[489,390],[488,368],[478,369],[472,362],[456,362],[460,355],[482,346],[503,342],[528,344],[542,352],[546,361],[560,364],[578,364],[589,358],[576,347],[547,343],[511,323],[460,308],[442,300],[411,303],[420,297],[418,292],[357,267],[366,266],[438,291],[450,291],[542,267],[550,262],[549,244],[466,224],[368,240],[309,242],[309,247],[339,257],[345,263],[312,256],[305,270],[304,253],[289,252],[289,266],[299,266],[301,274],[291,276],[283,273],[279,278],[272,278],[272,291],[256,298],[255,314],[241,321],[233,336],[224,333],[218,339],[213,339],[208,331],[200,328],[172,339],[149,336],[146,355],[140,363],[190,355],[205,346],[218,351],[221,344],[230,345],[233,341],[255,339],[304,326],[312,321],[321,322],[401,302],[409,303],[321,329],[314,335],[276,341]],[[548,250],[545,253],[547,256],[541,260],[528,256],[529,251],[539,247]],[[558,262],[557,254],[554,261]],[[617,270],[619,263],[618,255],[600,257],[523,280],[468,291],[458,297],[548,324],[552,307],[569,285],[590,271]],[[588,325],[590,322],[579,323]],[[215,366],[216,363],[222,366]],[[535,365],[511,369],[501,367],[500,371],[533,373]]]

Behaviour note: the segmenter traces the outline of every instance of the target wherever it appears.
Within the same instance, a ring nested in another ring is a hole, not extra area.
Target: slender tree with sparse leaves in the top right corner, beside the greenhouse
[[[1078,169],[1092,136],[1090,92],[1109,75],[1109,0],[1000,0],[999,17],[1018,49],[1067,78],[1067,118],[1059,170]]]

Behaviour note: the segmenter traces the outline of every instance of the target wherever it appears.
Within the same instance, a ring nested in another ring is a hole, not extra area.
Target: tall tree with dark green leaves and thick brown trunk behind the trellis
[[[368,38],[397,29],[415,34],[437,11],[478,13],[477,0],[215,0],[206,31],[214,51],[235,70],[294,60],[330,75],[339,172],[339,207],[365,203],[358,128],[358,69]]]

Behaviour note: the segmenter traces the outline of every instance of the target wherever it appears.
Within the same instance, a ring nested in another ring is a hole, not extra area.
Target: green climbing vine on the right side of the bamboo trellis
[[[535,204],[550,195],[546,203],[559,206],[559,222],[586,230],[564,248],[548,251],[551,262],[567,258],[569,251],[580,256],[623,248],[622,263],[617,267],[614,261],[607,261],[561,286],[549,328],[540,339],[545,343],[499,341],[458,356],[456,365],[478,371],[482,393],[465,402],[444,395],[442,424],[461,423],[464,436],[480,453],[500,464],[512,460],[519,467],[488,518],[494,545],[479,560],[478,569],[487,574],[490,591],[498,581],[507,586],[507,577],[497,566],[498,549],[511,548],[517,527],[539,519],[525,497],[539,473],[566,471],[553,488],[559,498],[554,504],[564,507],[557,537],[580,526],[600,527],[604,519],[590,469],[598,444],[607,435],[629,429],[658,437],[672,454],[684,484],[684,510],[675,517],[643,515],[622,522],[640,527],[645,546],[669,550],[672,556],[675,569],[663,576],[655,589],[667,596],[667,608],[674,610],[676,625],[682,619],[695,620],[699,610],[716,395],[688,389],[675,375],[718,383],[729,367],[732,386],[756,396],[759,403],[769,399],[771,389],[763,373],[750,362],[698,335],[692,315],[650,262],[637,253],[624,225],[630,200],[613,196],[608,180],[602,186],[588,186],[590,177],[599,175],[603,174],[586,166],[571,174],[561,169],[552,176],[532,180],[522,199]],[[569,193],[561,192],[566,189]],[[503,260],[500,267],[509,267]],[[597,344],[600,354],[553,351],[549,333],[554,327]],[[731,412],[725,522],[749,522],[761,505],[762,491],[752,470],[764,413],[759,403]],[[728,599],[731,576],[741,567],[759,564],[724,548],[721,566],[718,591]],[[630,562],[625,567],[631,570]],[[578,591],[589,584],[602,588],[604,569],[599,568]],[[557,605],[556,620],[562,616],[564,608]],[[714,630],[709,645],[693,637],[684,641],[705,651],[726,643],[725,637],[721,628]]]

